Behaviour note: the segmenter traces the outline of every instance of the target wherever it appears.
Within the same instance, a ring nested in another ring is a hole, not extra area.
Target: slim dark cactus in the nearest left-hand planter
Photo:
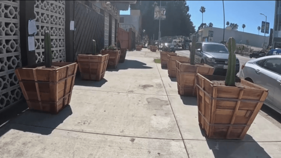
[[[50,32],[44,33],[44,62],[46,67],[52,67],[52,50]]]

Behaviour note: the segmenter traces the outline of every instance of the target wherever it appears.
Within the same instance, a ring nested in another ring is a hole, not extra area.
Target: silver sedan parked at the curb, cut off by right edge
[[[268,89],[264,104],[281,114],[281,55],[250,60],[241,69],[240,78]]]

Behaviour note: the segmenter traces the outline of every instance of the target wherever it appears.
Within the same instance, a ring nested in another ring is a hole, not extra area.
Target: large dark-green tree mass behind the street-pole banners
[[[159,20],[154,20],[153,4],[160,5],[160,1],[137,1],[131,4],[131,10],[140,10],[142,15],[142,29],[150,37],[158,37]],[[161,1],[161,6],[166,7],[166,19],[161,20],[161,37],[164,36],[189,36],[195,33],[195,26],[191,22],[189,6],[185,1]],[[175,16],[177,15],[177,16]]]

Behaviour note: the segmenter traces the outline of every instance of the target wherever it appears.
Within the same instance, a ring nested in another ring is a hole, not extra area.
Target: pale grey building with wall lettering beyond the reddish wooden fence
[[[119,27],[123,28],[126,31],[129,31],[130,28],[135,32],[136,43],[141,42],[141,11],[140,10],[131,10],[130,15],[120,15],[120,24]]]

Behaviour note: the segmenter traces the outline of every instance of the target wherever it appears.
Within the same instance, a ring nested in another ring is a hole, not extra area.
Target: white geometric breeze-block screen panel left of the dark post
[[[21,67],[19,1],[0,1],[0,110],[23,98],[15,75]]]

